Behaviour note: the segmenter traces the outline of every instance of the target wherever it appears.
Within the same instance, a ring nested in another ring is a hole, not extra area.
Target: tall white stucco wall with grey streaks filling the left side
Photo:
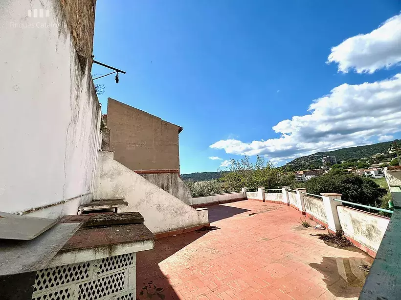
[[[68,201],[70,213],[79,202],[90,201],[100,105],[90,71],[82,72],[54,3],[1,3],[0,211],[24,211],[85,195]],[[49,17],[29,18],[33,9],[48,10]],[[54,26],[37,28],[38,22]],[[18,27],[28,23],[34,27]],[[61,205],[47,211],[53,217],[66,213]]]

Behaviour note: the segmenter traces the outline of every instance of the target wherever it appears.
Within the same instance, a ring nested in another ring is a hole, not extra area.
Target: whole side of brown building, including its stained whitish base
[[[114,160],[191,203],[191,190],[179,177],[178,135],[182,127],[109,98],[107,129]]]

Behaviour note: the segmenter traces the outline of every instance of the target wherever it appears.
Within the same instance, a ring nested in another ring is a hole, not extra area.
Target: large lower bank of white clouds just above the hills
[[[280,162],[372,143],[372,138],[401,131],[401,74],[389,80],[339,85],[329,95],[314,100],[308,111],[273,126],[279,138],[219,140],[210,147],[228,154],[265,155]]]

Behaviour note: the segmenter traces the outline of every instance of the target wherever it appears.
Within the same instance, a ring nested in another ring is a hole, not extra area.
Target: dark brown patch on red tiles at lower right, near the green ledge
[[[323,281],[335,297],[352,298],[359,296],[365,283],[367,272],[359,268],[365,263],[358,258],[323,257],[321,263],[309,265],[324,275]]]

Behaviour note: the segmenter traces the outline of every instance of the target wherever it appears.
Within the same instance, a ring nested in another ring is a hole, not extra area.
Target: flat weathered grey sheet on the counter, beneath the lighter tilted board
[[[59,223],[33,240],[0,240],[0,276],[44,269],[82,223]]]

